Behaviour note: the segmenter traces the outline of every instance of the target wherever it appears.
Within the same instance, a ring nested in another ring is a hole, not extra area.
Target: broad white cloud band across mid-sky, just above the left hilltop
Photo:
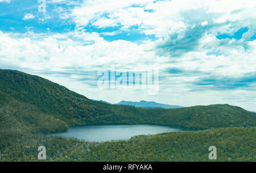
[[[59,67],[80,66],[90,69],[96,65],[109,66],[110,64],[116,64],[119,68],[141,68],[151,64],[161,69],[176,67],[229,77],[256,71],[254,56],[256,41],[249,41],[249,47],[245,50],[241,47],[242,40],[238,41],[240,43],[229,39],[218,40],[214,35],[204,35],[199,41],[199,47],[180,56],[179,61],[176,61],[175,64],[171,63],[175,57],[159,57],[155,54],[152,50],[154,42],[141,45],[125,40],[108,42],[104,41],[98,33],[89,33],[84,30],[43,36],[42,39],[37,39],[38,41],[31,40],[29,37],[15,39],[9,34],[1,32],[0,39],[1,61],[8,61],[7,64],[24,65],[27,68],[41,68],[44,65],[55,67],[57,65]],[[83,45],[86,41],[89,43],[93,41],[93,43]],[[206,53],[213,48],[217,48],[225,56],[207,56]],[[47,57],[47,60],[44,60],[43,57]],[[45,64],[46,61],[47,64]]]

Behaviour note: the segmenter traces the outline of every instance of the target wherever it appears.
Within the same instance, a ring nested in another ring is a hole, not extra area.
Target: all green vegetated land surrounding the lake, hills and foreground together
[[[86,142],[46,136],[68,125],[155,124],[198,132],[137,136],[126,141]],[[143,109],[92,101],[38,76],[0,70],[0,161],[255,161],[256,113],[228,104]],[[212,129],[215,128],[215,129]]]

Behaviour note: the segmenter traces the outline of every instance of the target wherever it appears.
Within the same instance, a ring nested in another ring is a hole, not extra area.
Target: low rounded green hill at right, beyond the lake
[[[169,109],[156,122],[189,129],[255,126],[256,114],[237,106],[213,104]]]

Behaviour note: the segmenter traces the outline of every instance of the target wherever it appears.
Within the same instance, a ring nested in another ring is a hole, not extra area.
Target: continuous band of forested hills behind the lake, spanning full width
[[[15,126],[18,122],[16,128],[41,129],[42,132],[67,130],[67,124],[137,123],[191,129],[256,126],[256,113],[240,107],[220,104],[143,109],[112,105],[90,100],[57,83],[16,70],[0,70],[0,106],[0,128]],[[45,126],[36,124],[38,119]]]

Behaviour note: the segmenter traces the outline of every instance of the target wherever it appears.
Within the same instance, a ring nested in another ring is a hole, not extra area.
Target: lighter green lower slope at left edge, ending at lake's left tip
[[[0,91],[0,130],[8,132],[51,133],[68,130],[68,125]]]

